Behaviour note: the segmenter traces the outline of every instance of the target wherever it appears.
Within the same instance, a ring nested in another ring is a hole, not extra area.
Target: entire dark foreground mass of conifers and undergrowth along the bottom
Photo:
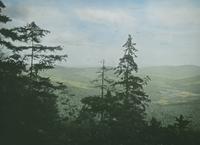
[[[11,21],[2,14],[0,1],[0,144],[4,145],[183,145],[200,144],[198,131],[189,130],[182,115],[163,126],[157,119],[146,120],[149,97],[143,87],[149,77],[136,76],[136,48],[131,35],[123,45],[124,55],[114,68],[118,79],[106,76],[103,66],[94,81],[100,94],[82,99],[82,107],[59,116],[57,101],[66,92],[62,83],[41,76],[67,55],[60,46],[44,46],[49,31],[34,22],[7,28]],[[66,94],[67,96],[67,94]],[[65,102],[67,103],[67,102]]]

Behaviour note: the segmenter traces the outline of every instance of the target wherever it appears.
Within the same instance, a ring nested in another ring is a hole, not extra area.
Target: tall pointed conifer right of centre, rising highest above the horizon
[[[115,68],[115,74],[119,78],[115,82],[115,86],[119,88],[117,96],[123,106],[128,109],[126,111],[133,113],[133,115],[127,114],[128,118],[131,119],[133,117],[136,120],[143,120],[145,107],[149,101],[143,86],[149,78],[142,79],[134,74],[138,72],[138,66],[134,60],[137,57],[135,45],[136,43],[132,42],[132,37],[129,35],[127,42],[123,45],[125,47],[124,55],[120,58],[119,65]]]

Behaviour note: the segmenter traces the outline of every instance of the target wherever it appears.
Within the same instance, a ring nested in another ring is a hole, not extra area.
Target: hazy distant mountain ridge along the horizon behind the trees
[[[98,67],[64,67],[56,66],[54,70],[48,71],[48,74],[54,76],[54,73],[66,77],[69,75],[78,75],[83,78],[94,79]],[[66,75],[64,75],[66,74]],[[111,74],[111,73],[110,73]],[[168,78],[168,79],[185,79],[200,75],[200,66],[195,65],[181,65],[181,66],[152,66],[139,68],[136,75],[148,75],[152,77]]]

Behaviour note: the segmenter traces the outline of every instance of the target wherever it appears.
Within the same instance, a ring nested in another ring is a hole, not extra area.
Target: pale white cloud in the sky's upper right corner
[[[169,3],[152,3],[146,7],[149,22],[169,27],[199,27],[200,9],[185,2],[183,5]]]

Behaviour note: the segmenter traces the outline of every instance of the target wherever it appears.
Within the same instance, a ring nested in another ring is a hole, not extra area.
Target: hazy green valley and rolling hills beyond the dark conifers
[[[71,93],[75,94],[75,100],[79,100],[98,93],[90,83],[96,77],[97,71],[97,68],[59,66],[43,74],[68,85]],[[168,122],[178,114],[185,114],[194,120],[194,124],[200,124],[200,67],[146,67],[139,70],[139,75],[148,75],[151,78],[145,87],[152,100],[148,108],[150,115]]]

